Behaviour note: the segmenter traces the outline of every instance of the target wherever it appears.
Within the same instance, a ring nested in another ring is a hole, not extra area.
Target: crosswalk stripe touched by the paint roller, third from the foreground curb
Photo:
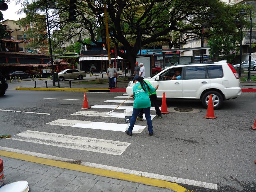
[[[73,113],[71,115],[124,118],[124,113],[112,112],[110,114],[107,114],[106,112],[103,112],[103,111],[78,111],[78,112]],[[156,115],[151,115],[151,119],[153,119],[155,116]],[[143,119],[146,119],[145,114],[143,114]]]

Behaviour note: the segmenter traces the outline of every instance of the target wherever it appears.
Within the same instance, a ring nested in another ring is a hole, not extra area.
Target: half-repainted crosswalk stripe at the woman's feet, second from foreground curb
[[[105,112],[106,113],[106,112]],[[79,127],[86,129],[101,129],[110,131],[122,131],[128,130],[129,124],[119,124],[119,123],[104,123],[104,122],[93,122],[93,121],[79,121],[79,120],[69,120],[69,119],[57,119],[48,125],[60,125],[69,127]],[[141,133],[146,126],[134,125],[133,132]]]

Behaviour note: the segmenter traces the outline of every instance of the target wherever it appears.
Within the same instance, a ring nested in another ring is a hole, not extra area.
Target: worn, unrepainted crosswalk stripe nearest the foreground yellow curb
[[[9,139],[112,155],[121,155],[130,145],[127,142],[30,130],[18,133]]]

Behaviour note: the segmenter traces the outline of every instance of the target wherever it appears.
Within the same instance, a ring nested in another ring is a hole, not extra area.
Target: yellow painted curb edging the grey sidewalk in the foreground
[[[77,165],[77,164],[56,161],[56,160],[52,160],[52,159],[45,159],[45,158],[41,158],[41,157],[35,157],[35,156],[31,156],[31,155],[3,151],[3,150],[0,150],[0,155],[4,156],[4,157],[14,158],[14,159],[20,159],[23,161],[39,163],[39,164],[44,164],[44,165],[49,165],[49,166],[55,166],[55,167],[59,167],[59,168],[63,168],[63,169],[70,169],[70,170],[74,170],[74,171],[80,171],[80,172],[94,174],[94,175],[100,175],[100,176],[105,176],[105,177],[110,177],[110,178],[115,178],[115,179],[121,179],[121,180],[131,181],[131,182],[135,182],[135,183],[143,183],[145,185],[150,185],[150,186],[169,188],[176,192],[186,192],[187,191],[186,188],[178,185],[177,183],[171,183],[169,181],[163,181],[160,179],[152,179],[152,178],[133,175],[133,174],[126,174],[126,173],[121,173],[121,172],[117,172],[117,171],[110,171],[110,170],[106,170],[106,169],[99,169],[99,168],[94,168],[94,167],[89,167],[89,166],[84,166],[84,165]]]

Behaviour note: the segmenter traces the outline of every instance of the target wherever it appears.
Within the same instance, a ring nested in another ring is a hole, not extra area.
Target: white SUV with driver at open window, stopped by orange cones
[[[164,78],[172,77],[176,70],[181,72],[180,80]],[[166,98],[201,99],[205,108],[210,94],[214,109],[220,108],[223,100],[241,95],[238,74],[226,61],[172,66],[144,80],[150,81],[153,87],[159,84],[157,97],[162,97],[165,92]],[[128,95],[133,94],[133,85],[130,81],[126,88]]]

